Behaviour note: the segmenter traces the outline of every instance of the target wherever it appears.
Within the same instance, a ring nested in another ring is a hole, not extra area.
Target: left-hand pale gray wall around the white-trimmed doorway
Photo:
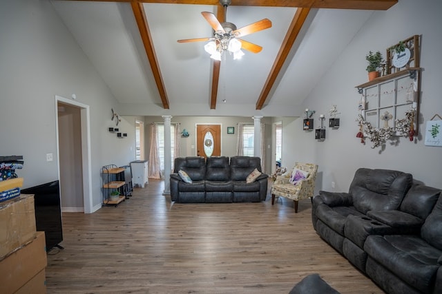
[[[0,2],[0,155],[23,155],[23,188],[56,180],[55,95],[90,106],[93,205],[102,202],[99,169],[135,158],[135,131],[124,118],[117,139],[107,128],[117,101],[49,1]]]

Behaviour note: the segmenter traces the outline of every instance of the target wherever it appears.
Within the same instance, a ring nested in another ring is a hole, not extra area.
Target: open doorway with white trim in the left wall
[[[93,213],[89,106],[55,96],[61,211]]]

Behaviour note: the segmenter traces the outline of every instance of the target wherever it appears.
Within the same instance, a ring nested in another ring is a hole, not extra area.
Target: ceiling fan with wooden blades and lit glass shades
[[[223,52],[229,51],[233,53],[233,59],[240,59],[244,52],[241,48],[253,53],[258,53],[262,50],[262,47],[248,41],[239,39],[239,37],[247,36],[260,30],[271,28],[271,21],[269,19],[261,19],[256,23],[251,23],[242,28],[237,29],[236,25],[226,21],[227,19],[227,6],[229,6],[231,0],[220,0],[220,4],[224,7],[224,22],[218,21],[215,14],[211,12],[201,12],[202,16],[213,28],[213,36],[197,39],[183,39],[178,40],[178,43],[189,43],[199,41],[209,41],[204,45],[204,50],[211,54],[211,58],[220,61]]]

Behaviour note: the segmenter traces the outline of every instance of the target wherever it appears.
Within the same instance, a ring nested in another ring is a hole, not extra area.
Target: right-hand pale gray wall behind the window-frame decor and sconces
[[[423,138],[425,122],[436,113],[442,115],[441,12],[442,2],[434,0],[401,0],[390,10],[373,12],[303,104],[304,109],[316,110],[315,125],[319,124],[319,114],[325,114],[328,122],[328,110],[338,105],[340,128],[327,127],[327,138],[318,142],[314,132],[302,131],[302,118],[285,120],[283,158],[290,162],[287,165],[296,160],[317,162],[317,190],[348,191],[358,167],[405,171],[425,185],[442,188],[442,148],[425,146]],[[414,34],[421,35],[423,67],[419,136],[414,142],[401,138],[398,145],[387,143],[385,148],[372,149],[369,141],[362,145],[356,138],[361,96],[355,86],[367,81],[365,54],[380,50],[385,56],[387,48]]]

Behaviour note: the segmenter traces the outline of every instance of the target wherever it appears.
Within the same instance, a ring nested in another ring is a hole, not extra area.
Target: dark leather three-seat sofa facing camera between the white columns
[[[212,156],[175,158],[171,174],[171,200],[180,203],[260,202],[267,196],[267,174],[254,182],[246,179],[254,169],[261,170],[259,157]],[[192,182],[184,182],[178,171],[185,171]]]

